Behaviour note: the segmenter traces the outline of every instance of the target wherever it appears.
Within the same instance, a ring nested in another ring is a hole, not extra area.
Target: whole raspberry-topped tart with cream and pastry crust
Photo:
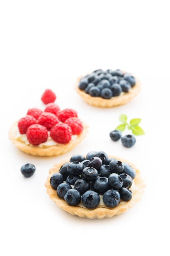
[[[51,157],[72,150],[87,132],[88,126],[75,110],[60,110],[55,103],[48,103],[44,111],[29,109],[11,126],[9,139],[27,154]]]

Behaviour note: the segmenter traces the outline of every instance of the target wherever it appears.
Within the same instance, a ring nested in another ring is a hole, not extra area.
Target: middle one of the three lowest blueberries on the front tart
[[[88,190],[82,195],[81,201],[87,209],[94,209],[100,203],[100,196],[97,192]]]

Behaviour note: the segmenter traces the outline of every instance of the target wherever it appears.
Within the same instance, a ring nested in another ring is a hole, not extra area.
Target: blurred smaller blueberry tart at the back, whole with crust
[[[111,108],[131,101],[140,92],[141,83],[131,73],[119,69],[98,69],[78,77],[74,88],[89,105]]]

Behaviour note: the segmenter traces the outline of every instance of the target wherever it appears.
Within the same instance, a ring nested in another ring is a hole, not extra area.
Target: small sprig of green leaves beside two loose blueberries
[[[115,130],[120,130],[121,132],[123,132],[126,128],[128,128],[129,130],[132,130],[132,133],[134,135],[144,135],[145,132],[144,130],[142,130],[142,128],[139,126],[139,123],[141,121],[140,118],[133,118],[130,120],[130,123],[127,123],[127,116],[124,114],[121,114],[119,117],[119,121],[122,123],[120,125],[118,125]]]

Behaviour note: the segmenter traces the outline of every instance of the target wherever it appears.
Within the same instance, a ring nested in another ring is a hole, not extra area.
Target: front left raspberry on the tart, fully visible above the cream
[[[31,125],[27,132],[26,137],[30,144],[34,146],[38,146],[39,144],[46,142],[48,139],[48,131],[47,128],[41,126],[40,124]]]

